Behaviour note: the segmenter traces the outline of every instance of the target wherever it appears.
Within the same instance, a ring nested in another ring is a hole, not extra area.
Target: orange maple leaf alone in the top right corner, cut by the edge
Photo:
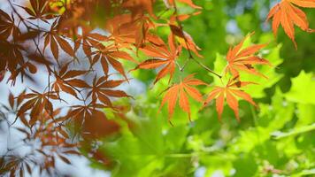
[[[271,9],[266,20],[273,19],[274,35],[277,35],[278,27],[281,25],[297,48],[294,26],[309,33],[313,33],[314,30],[310,29],[305,13],[296,6],[315,8],[315,0],[282,0]]]

